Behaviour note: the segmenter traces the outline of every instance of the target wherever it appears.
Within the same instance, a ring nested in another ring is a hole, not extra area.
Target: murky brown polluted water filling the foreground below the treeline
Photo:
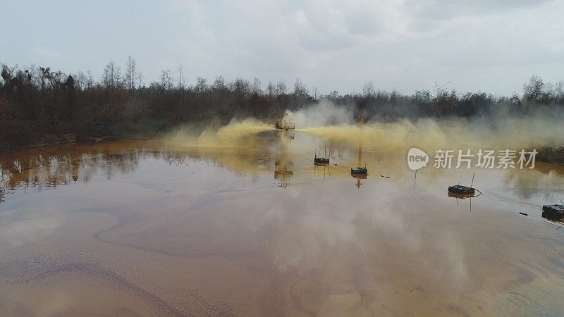
[[[424,168],[414,184],[403,155],[366,150],[363,180],[356,149],[330,144],[323,167],[323,140],[251,141],[0,156],[1,315],[564,312],[564,228],[540,220],[563,168]],[[474,172],[482,196],[447,197]]]

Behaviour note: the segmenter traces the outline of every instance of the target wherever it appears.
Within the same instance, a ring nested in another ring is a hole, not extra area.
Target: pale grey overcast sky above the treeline
[[[434,85],[509,95],[564,81],[564,0],[0,0],[0,63],[92,70],[133,56],[145,83],[296,78],[321,93]]]

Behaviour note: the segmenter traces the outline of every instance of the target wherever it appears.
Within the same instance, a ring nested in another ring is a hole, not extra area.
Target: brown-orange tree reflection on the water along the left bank
[[[71,182],[87,183],[95,175],[106,179],[135,173],[140,161],[154,159],[176,166],[207,161],[238,175],[257,175],[274,163],[267,151],[257,148],[233,149],[226,154],[218,149],[170,149],[161,142],[99,142],[55,147],[39,147],[0,156],[0,197],[15,189],[49,189]],[[277,160],[291,170],[288,151]],[[277,164],[277,165],[278,165]]]

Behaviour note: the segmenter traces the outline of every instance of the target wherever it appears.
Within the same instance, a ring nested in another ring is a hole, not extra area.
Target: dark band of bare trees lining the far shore
[[[223,76],[213,82],[197,77],[188,85],[181,66],[164,70],[146,85],[135,59],[123,68],[110,61],[96,80],[90,71],[66,74],[49,67],[18,68],[2,64],[0,82],[0,151],[94,137],[151,136],[190,124],[195,129],[232,118],[270,120],[327,99],[353,108],[369,120],[487,116],[504,109],[527,113],[541,105],[564,107],[564,83],[531,77],[522,94],[496,97],[485,92],[460,94],[446,86],[413,94],[377,89],[372,82],[362,92],[321,94],[299,79],[288,87]]]

